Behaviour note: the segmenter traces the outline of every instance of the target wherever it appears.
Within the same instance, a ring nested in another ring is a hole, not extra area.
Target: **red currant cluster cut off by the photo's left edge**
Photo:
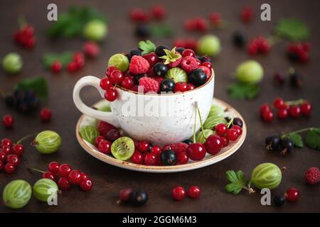
[[[0,143],[0,170],[6,173],[13,173],[20,164],[20,157],[24,153],[23,145],[12,143],[8,138],[4,138]]]

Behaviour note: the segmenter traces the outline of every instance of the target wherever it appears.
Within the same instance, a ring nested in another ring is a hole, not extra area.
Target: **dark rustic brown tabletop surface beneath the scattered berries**
[[[52,2],[52,1],[50,1]],[[58,10],[64,11],[69,3],[66,1],[55,1]],[[85,4],[85,1],[74,1]],[[89,1],[87,1],[89,2]],[[127,13],[133,6],[147,8],[151,6],[151,1],[90,1],[92,6],[98,7],[107,13],[110,19],[110,33],[102,43],[102,55],[97,60],[87,61],[83,70],[75,74],[63,72],[58,75],[51,74],[43,70],[41,56],[43,52],[80,50],[83,43],[81,38],[73,40],[48,40],[43,35],[45,29],[50,25],[46,21],[46,6],[49,1],[1,1],[0,3],[0,57],[7,52],[19,52],[24,60],[23,71],[17,76],[6,76],[0,72],[0,89],[9,89],[18,80],[34,75],[43,75],[50,84],[50,96],[46,101],[46,106],[53,110],[53,121],[48,124],[40,123],[38,116],[21,116],[7,109],[4,103],[0,103],[0,116],[4,114],[14,114],[16,124],[14,130],[6,131],[0,127],[0,138],[11,138],[18,140],[23,135],[35,131],[51,129],[60,133],[63,138],[63,146],[59,152],[53,155],[41,155],[31,147],[27,147],[26,154],[23,155],[22,164],[18,167],[14,175],[0,173],[0,192],[4,186],[13,179],[26,179],[33,184],[39,175],[33,175],[26,167],[37,167],[46,169],[48,162],[57,160],[60,163],[67,162],[76,169],[87,172],[95,182],[92,192],[81,192],[77,187],[73,187],[68,192],[63,192],[58,198],[58,206],[48,206],[36,199],[31,199],[30,203],[18,211],[23,212],[319,212],[320,196],[319,185],[315,187],[307,186],[304,183],[304,172],[311,166],[318,166],[320,161],[319,151],[308,148],[295,149],[292,154],[281,157],[278,154],[268,153],[263,148],[264,138],[270,133],[280,133],[281,131],[292,131],[308,126],[319,126],[319,1],[269,1],[272,6],[272,21],[262,22],[258,19],[250,25],[244,25],[238,20],[240,7],[244,1],[163,1],[168,9],[167,22],[177,29],[177,36],[181,38],[194,37],[199,34],[188,34],[183,31],[183,21],[191,16],[207,16],[210,11],[219,11],[225,20],[230,21],[232,26],[223,31],[214,31],[215,35],[222,40],[223,51],[217,60],[214,61],[216,73],[215,96],[229,104],[235,106],[240,114],[247,121],[248,134],[245,143],[237,153],[228,159],[218,162],[210,167],[191,172],[181,172],[167,175],[147,174],[132,172],[112,167],[96,160],[88,155],[75,138],[75,124],[80,117],[80,112],[75,108],[72,100],[73,85],[83,75],[92,74],[102,77],[105,71],[107,59],[115,52],[124,52],[135,48],[137,38],[134,38],[134,26],[127,21]],[[162,1],[161,1],[162,2]],[[247,1],[248,4],[259,10],[262,1]],[[17,28],[16,18],[25,15],[30,23],[36,28],[37,46],[35,50],[22,50],[14,45],[11,40],[11,33]],[[305,75],[304,87],[297,91],[290,89],[278,89],[272,86],[272,74],[277,71],[286,70],[291,63],[284,57],[284,50],[287,42],[279,43],[272,48],[267,56],[256,57],[265,68],[265,79],[262,82],[262,93],[254,101],[235,101],[230,99],[225,89],[232,79],[229,74],[235,66],[242,60],[246,60],[248,55],[244,51],[237,50],[231,45],[231,34],[235,29],[240,29],[247,33],[249,37],[255,35],[269,35],[275,21],[282,17],[298,17],[304,19],[312,30],[311,62],[307,65],[294,65],[297,70]],[[257,17],[258,18],[258,17]],[[156,44],[171,45],[172,40],[156,40]],[[85,89],[83,98],[87,104],[93,104],[100,99],[94,89]],[[257,114],[257,109],[263,102],[271,103],[272,100],[282,96],[286,100],[303,97],[309,99],[314,104],[314,111],[311,118],[299,118],[297,120],[275,121],[272,124],[262,123]],[[224,173],[226,170],[243,170],[246,175],[256,165],[262,162],[274,162],[279,166],[287,166],[288,171],[284,173],[280,186],[272,191],[272,194],[282,194],[288,187],[297,187],[302,196],[296,203],[287,203],[281,209],[272,206],[262,206],[260,204],[260,194],[248,195],[241,193],[238,196],[227,194],[224,185],[227,183]],[[198,185],[203,190],[201,199],[185,199],[181,202],[171,200],[171,189],[181,184],[184,187],[193,184]],[[142,187],[149,192],[149,202],[146,206],[133,208],[131,206],[119,206],[115,203],[119,189],[123,187]],[[3,206],[1,202],[0,212],[12,211]]]

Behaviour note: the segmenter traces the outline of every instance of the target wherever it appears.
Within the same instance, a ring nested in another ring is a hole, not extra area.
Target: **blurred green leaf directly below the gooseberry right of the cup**
[[[228,94],[233,99],[254,99],[260,92],[257,84],[236,82],[228,86]]]

